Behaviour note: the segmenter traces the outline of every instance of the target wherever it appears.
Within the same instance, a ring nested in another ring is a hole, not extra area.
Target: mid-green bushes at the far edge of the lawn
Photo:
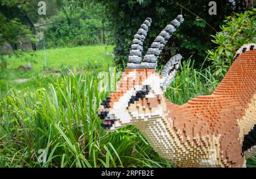
[[[112,43],[102,6],[88,1],[60,1],[57,14],[46,20],[48,48]]]

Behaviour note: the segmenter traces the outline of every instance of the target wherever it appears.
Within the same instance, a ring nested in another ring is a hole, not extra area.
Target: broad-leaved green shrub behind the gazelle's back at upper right
[[[221,32],[213,36],[217,47],[208,50],[213,75],[220,79],[232,64],[237,49],[243,44],[256,43],[256,9],[228,16],[224,22]]]

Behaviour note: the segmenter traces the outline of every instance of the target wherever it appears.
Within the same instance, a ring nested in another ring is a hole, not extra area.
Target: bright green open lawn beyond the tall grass
[[[46,88],[49,73],[68,72],[69,69],[93,70],[100,72],[113,65],[113,46],[98,45],[74,48],[56,48],[46,50],[47,68],[44,68],[44,51],[22,52],[16,51],[13,56],[3,56],[8,64],[6,69],[0,70],[0,91],[7,92],[7,86],[16,89],[35,90],[40,86]],[[32,64],[32,69],[20,72],[18,66]],[[15,80],[27,78],[28,81],[17,84]]]

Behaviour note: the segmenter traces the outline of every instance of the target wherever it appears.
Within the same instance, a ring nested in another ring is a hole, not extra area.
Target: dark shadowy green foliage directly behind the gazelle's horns
[[[224,19],[224,15],[231,14],[231,7],[226,1],[218,1],[218,15],[208,14],[209,1],[108,1],[98,0],[106,8],[110,22],[114,30],[115,42],[115,63],[122,64],[129,56],[131,41],[138,31],[138,28],[147,17],[152,18],[152,26],[144,41],[144,51],[162,31],[181,12],[185,22],[177,28],[175,35],[169,40],[162,53],[159,64],[165,64],[171,56],[181,53],[185,59],[191,55],[197,59],[195,65],[203,63],[205,51],[213,45],[210,42],[210,35],[215,34],[218,26]],[[195,13],[195,14],[193,14]],[[204,19],[204,20],[203,20]],[[208,23],[208,24],[207,24]]]

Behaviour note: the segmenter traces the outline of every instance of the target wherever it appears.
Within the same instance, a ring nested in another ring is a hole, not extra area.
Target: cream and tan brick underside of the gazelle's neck
[[[202,146],[200,151],[192,150],[192,146],[196,147],[200,138],[195,138],[193,144],[191,144],[187,139],[181,137],[179,135],[181,130],[174,129],[174,121],[171,118],[172,115],[170,115],[179,106],[174,105],[164,96],[161,100],[163,101],[160,103],[158,110],[162,110],[162,116],[149,116],[146,121],[135,124],[151,147],[163,159],[177,166],[223,166],[220,160],[217,159],[218,152],[216,150],[219,147],[216,141],[220,136],[210,136],[205,139],[208,143],[207,146]],[[191,147],[188,147],[190,145]],[[191,159],[191,156],[194,158]],[[191,163],[192,161],[193,163]]]

